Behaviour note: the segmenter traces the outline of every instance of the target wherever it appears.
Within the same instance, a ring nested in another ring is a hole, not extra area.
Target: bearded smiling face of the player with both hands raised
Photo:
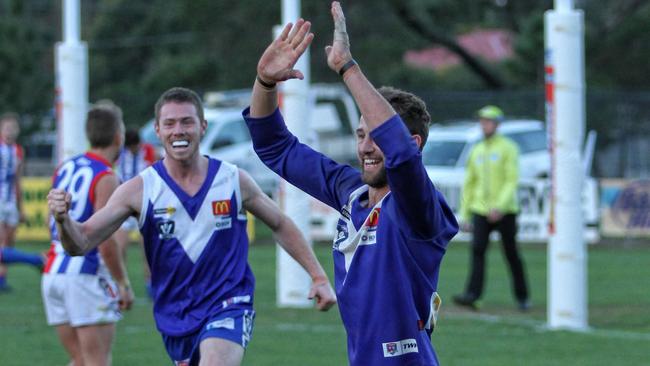
[[[388,185],[384,153],[370,137],[368,125],[361,117],[357,135],[357,157],[361,166],[361,180],[372,188],[382,188]]]

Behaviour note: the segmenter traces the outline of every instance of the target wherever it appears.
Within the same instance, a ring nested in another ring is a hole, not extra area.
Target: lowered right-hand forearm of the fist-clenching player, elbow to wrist
[[[312,278],[312,281],[327,278],[323,267],[316,259],[312,248],[307,244],[305,237],[298,227],[289,218],[285,217],[273,235],[280,246],[295,259]]]

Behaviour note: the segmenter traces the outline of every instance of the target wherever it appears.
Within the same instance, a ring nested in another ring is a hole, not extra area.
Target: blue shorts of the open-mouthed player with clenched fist
[[[253,334],[253,309],[228,309],[211,317],[198,331],[180,337],[162,335],[167,354],[177,366],[198,365],[199,345],[206,338],[221,338],[246,348]]]

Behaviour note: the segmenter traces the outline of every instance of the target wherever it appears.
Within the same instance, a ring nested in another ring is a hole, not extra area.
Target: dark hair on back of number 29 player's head
[[[122,129],[122,120],[113,107],[99,105],[92,107],[86,116],[86,137],[92,148],[109,147],[115,134]]]

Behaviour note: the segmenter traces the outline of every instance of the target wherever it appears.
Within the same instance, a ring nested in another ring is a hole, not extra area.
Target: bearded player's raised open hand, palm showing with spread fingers
[[[309,32],[311,23],[298,19],[296,25],[287,24],[282,34],[266,48],[257,63],[257,76],[272,84],[289,79],[303,79],[300,70],[293,67],[314,39]]]

